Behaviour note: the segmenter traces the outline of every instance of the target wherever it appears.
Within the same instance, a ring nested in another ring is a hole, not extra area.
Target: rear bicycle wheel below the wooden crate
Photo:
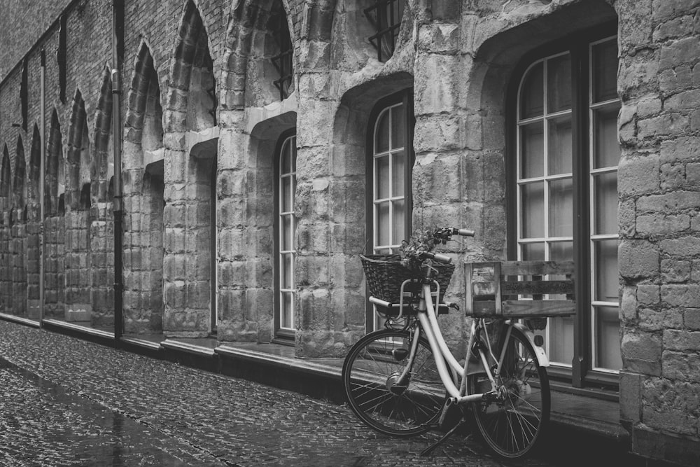
[[[499,456],[516,459],[535,447],[549,423],[549,379],[538,363],[535,349],[517,328],[507,342],[503,334],[499,347],[507,345],[503,366],[496,377],[498,394],[488,401],[473,403],[474,416],[482,438]],[[485,375],[468,379],[470,394],[491,390]]]

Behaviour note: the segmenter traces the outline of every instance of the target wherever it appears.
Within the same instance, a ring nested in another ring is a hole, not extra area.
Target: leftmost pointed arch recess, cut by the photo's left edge
[[[12,312],[12,267],[10,256],[10,206],[12,186],[10,153],[7,144],[3,146],[0,163],[0,306],[4,313]]]

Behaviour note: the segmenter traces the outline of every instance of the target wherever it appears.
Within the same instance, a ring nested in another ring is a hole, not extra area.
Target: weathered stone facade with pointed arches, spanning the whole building
[[[300,357],[342,356],[366,330],[358,254],[368,238],[365,146],[377,101],[413,95],[414,228],[473,228],[466,249],[447,253],[505,258],[505,97],[521,57],[617,20],[621,419],[637,452],[697,459],[697,1],[409,0],[395,52],[379,62],[365,40],[369,0],[283,0],[295,74],[281,101],[267,60],[272,0],[124,4],[125,330],[205,337],[218,321],[222,341],[274,339],[274,150],[295,129]],[[0,83],[3,312],[31,315],[38,298],[34,127],[43,115],[45,316],[112,324],[111,5],[83,0],[66,10],[66,99],[57,23],[25,56],[27,79],[13,65]],[[461,281],[457,268],[453,299]],[[463,353],[463,316],[445,320]]]

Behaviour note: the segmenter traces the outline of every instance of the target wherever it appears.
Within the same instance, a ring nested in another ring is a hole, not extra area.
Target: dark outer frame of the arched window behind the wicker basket
[[[405,219],[404,230],[406,239],[411,235],[413,230],[413,185],[412,174],[413,165],[416,160],[416,154],[413,149],[413,130],[415,126],[415,116],[413,112],[413,88],[395,92],[379,99],[370,112],[367,118],[367,129],[365,131],[365,252],[374,254],[374,136],[379,116],[386,109],[392,106],[402,104],[404,108],[404,151],[406,153],[406,163],[404,164],[404,202],[405,202]],[[365,300],[365,328],[367,331],[374,330],[374,305],[369,301],[367,294]]]

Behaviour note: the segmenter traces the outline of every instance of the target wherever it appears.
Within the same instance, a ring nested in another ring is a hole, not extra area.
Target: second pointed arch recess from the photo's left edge
[[[25,145],[22,137],[17,139],[15,152],[15,174],[12,181],[13,216],[14,221],[10,235],[12,236],[12,288],[13,314],[27,314],[27,265],[25,264],[25,249],[27,248],[27,211],[25,200],[25,179],[27,178],[27,161],[25,160]],[[35,258],[38,260],[38,258]]]

